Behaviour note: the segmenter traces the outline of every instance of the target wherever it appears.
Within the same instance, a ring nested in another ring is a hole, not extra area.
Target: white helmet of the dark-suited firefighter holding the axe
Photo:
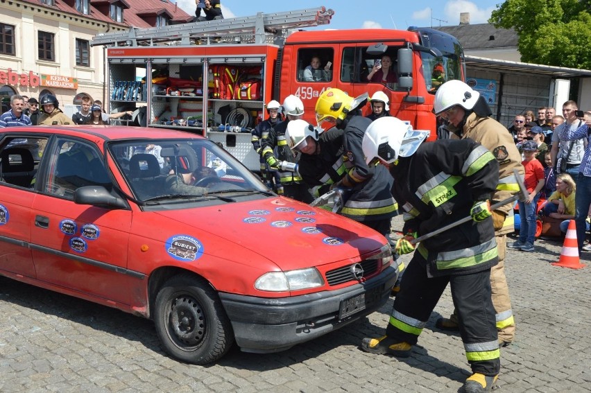
[[[368,126],[361,148],[366,163],[379,157],[388,164],[398,157],[413,155],[429,137],[429,131],[413,130],[411,125],[393,116],[381,117]]]

